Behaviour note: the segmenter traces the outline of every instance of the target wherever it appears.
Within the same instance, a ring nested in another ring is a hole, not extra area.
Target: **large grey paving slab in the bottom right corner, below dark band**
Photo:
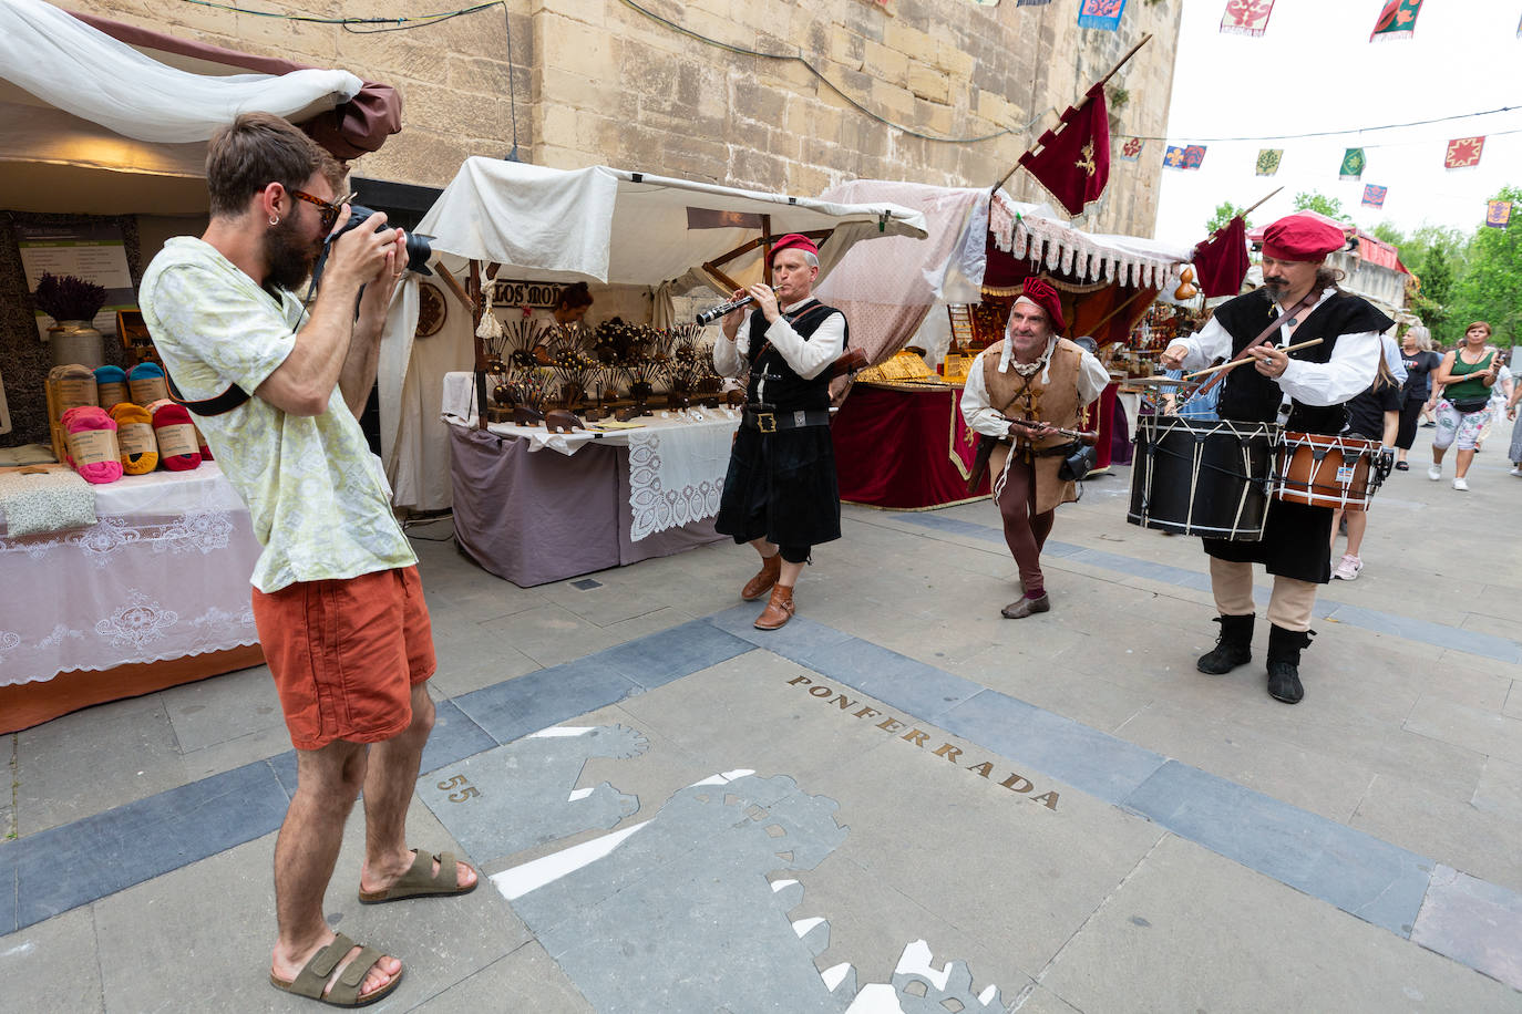
[[[1519,1006],[1499,982],[1172,836],[1040,982],[1085,1012]]]

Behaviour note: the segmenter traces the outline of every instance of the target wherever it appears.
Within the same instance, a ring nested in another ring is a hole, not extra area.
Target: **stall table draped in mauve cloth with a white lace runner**
[[[519,587],[724,538],[714,532],[738,412],[656,410],[639,429],[475,429],[473,375],[444,377],[455,535]]]

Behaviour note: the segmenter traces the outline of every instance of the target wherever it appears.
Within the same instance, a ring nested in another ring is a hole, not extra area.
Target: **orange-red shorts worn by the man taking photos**
[[[254,588],[254,623],[297,749],[391,739],[438,667],[416,566]]]

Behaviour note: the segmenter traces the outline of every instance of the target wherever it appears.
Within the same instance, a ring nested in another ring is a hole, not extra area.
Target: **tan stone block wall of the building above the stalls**
[[[995,8],[970,0],[636,2],[645,12],[624,0],[508,0],[507,11],[368,33],[181,0],[68,6],[394,85],[403,131],[356,170],[435,187],[469,155],[507,155],[514,125],[524,161],[554,167],[604,163],[804,196],[864,176],[991,185],[1145,32],[1152,43],[1114,81],[1129,99],[1111,108],[1111,122],[1129,134],[1166,132],[1180,20],[1180,5],[1167,0],[1132,0],[1120,32],[1078,29],[1071,5],[1017,8],[1014,0]],[[411,0],[269,0],[260,9],[377,18],[425,11]],[[737,53],[679,27],[801,59]],[[1158,173],[1158,151],[1114,163],[1102,205],[1082,223],[1149,236]],[[1023,172],[1006,187],[1021,199],[1041,198]]]

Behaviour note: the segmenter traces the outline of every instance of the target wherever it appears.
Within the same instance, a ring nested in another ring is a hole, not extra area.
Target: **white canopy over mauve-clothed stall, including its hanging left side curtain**
[[[650,290],[658,325],[673,322],[673,295],[705,283],[702,272],[763,231],[829,233],[820,277],[861,240],[924,239],[925,216],[890,202],[843,204],[737,190],[607,166],[545,169],[467,158],[416,230],[437,254],[435,271],[457,275],[467,261],[498,265],[498,278],[595,281]],[[721,265],[740,281],[761,275],[759,246]],[[443,374],[473,368],[470,309],[451,295],[444,330],[414,344],[419,286],[408,272],[380,344],[380,442],[396,503],[449,505],[447,429],[440,421]],[[447,286],[446,286],[447,287]]]

